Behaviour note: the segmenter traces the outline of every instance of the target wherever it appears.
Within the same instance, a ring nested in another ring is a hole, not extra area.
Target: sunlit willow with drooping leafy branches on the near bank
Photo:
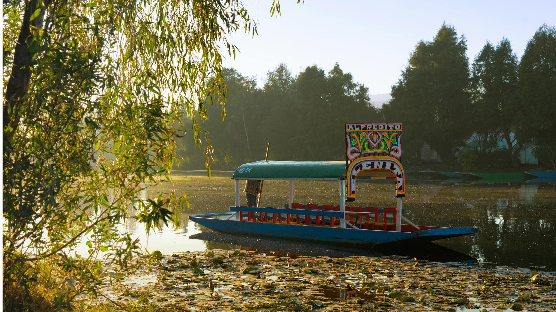
[[[235,56],[227,36],[256,23],[239,0],[4,1],[3,14],[4,308],[69,308],[143,253],[118,224],[177,224],[185,198],[138,193],[169,179],[182,112],[210,159],[221,51]]]

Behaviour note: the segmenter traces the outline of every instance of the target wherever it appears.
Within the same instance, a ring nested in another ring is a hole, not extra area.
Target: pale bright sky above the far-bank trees
[[[470,63],[487,40],[496,45],[502,37],[521,58],[543,23],[556,25],[556,0],[295,2],[281,0],[276,18],[269,14],[271,0],[245,1],[260,22],[259,36],[235,34],[232,42],[241,52],[234,60],[226,51],[224,66],[257,76],[262,87],[280,62],[294,75],[312,64],[328,72],[338,62],[371,94],[390,93],[415,44],[433,39],[444,21],[465,35]]]

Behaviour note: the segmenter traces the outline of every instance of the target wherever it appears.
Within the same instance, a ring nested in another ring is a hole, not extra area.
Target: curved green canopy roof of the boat
[[[232,179],[256,180],[342,180],[345,161],[337,162],[284,162],[260,160],[242,164]]]

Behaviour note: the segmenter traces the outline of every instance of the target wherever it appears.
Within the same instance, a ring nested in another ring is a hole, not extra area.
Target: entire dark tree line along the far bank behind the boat
[[[448,166],[463,157],[479,167],[515,168],[520,149],[531,142],[539,163],[556,169],[555,28],[541,26],[520,61],[507,38],[496,46],[487,41],[471,66],[466,52],[465,37],[442,24],[432,41],[416,44],[381,109],[370,104],[368,87],[337,63],[328,73],[312,65],[296,76],[281,63],[262,89],[254,77],[225,69],[225,122],[215,118],[221,114],[216,106],[207,108],[211,119],[205,120],[216,147],[213,168],[260,160],[266,142],[270,159],[345,159],[344,123],[401,122],[408,165],[421,164],[428,144]],[[187,116],[183,122],[189,123]],[[460,153],[473,134],[478,147]],[[500,140],[504,150],[493,152]],[[205,165],[191,140],[180,141],[180,154],[182,168]]]

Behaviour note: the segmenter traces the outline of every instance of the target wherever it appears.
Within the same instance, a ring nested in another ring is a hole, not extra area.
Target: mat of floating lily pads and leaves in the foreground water
[[[158,265],[112,286],[105,293],[112,302],[98,299],[92,311],[556,310],[556,272],[415,265],[407,257],[276,258],[240,250],[153,259]],[[140,283],[153,270],[158,279]]]

